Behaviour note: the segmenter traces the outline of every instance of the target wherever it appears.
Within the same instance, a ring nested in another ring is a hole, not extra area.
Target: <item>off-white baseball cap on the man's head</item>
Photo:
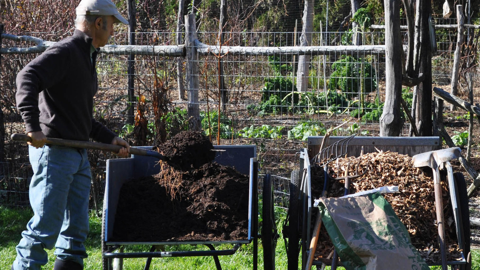
[[[112,15],[115,17],[116,23],[128,25],[128,21],[120,15],[117,7],[110,0],[81,0],[75,10],[77,15]]]

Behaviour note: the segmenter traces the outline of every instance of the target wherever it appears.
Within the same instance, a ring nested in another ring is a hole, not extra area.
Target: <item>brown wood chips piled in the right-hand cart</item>
[[[331,162],[329,164],[330,176],[333,178],[345,176],[347,166],[349,175],[356,174],[356,170],[358,170],[358,174],[367,170],[361,177],[351,179],[350,194],[382,186],[398,186],[399,192],[387,193],[383,196],[405,224],[410,233],[412,244],[420,251],[423,258],[430,263],[440,262],[432,170],[428,169],[424,172],[421,168],[413,167],[411,157],[387,151],[368,153],[359,158],[349,157]],[[315,178],[315,171],[318,170],[312,168],[312,190],[314,190],[314,182],[321,182],[313,179]],[[344,180],[332,180],[328,196],[343,196],[344,182]],[[446,225],[447,260],[456,260],[461,258],[461,255],[457,245],[450,195],[445,181],[442,182],[442,194]],[[319,196],[315,192],[313,192],[313,195]],[[332,257],[333,245],[325,228],[322,228],[320,234],[315,257],[328,262]]]

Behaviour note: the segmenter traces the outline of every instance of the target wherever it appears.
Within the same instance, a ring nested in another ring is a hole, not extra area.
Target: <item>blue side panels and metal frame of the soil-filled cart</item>
[[[253,242],[253,269],[257,269],[258,250],[258,161],[256,147],[253,146],[214,146],[218,151],[215,159],[222,165],[234,166],[241,173],[250,176],[248,238],[239,241],[188,241],[188,242],[122,242],[112,241],[113,224],[118,204],[120,188],[130,179],[159,172],[158,159],[135,156],[127,159],[107,160],[106,189],[102,215],[102,267],[103,270],[121,270],[124,258],[146,258],[144,270],[149,269],[152,258],[212,256],[216,269],[221,270],[218,256],[233,255],[243,244]],[[151,147],[143,147],[151,148]],[[266,178],[266,177],[265,177]],[[216,250],[217,244],[231,244],[230,249]],[[124,252],[125,245],[151,245],[148,252]],[[157,252],[156,245],[205,245],[209,250]]]

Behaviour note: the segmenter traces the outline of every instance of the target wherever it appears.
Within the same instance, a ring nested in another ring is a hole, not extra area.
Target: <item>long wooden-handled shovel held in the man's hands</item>
[[[18,133],[12,134],[11,138],[13,141],[19,141],[19,142],[32,141],[32,138],[30,138],[30,136],[24,135],[24,134],[18,134]],[[118,153],[122,148],[122,146],[120,145],[92,143],[88,141],[64,140],[64,139],[55,139],[55,138],[47,138],[47,141],[45,143],[50,145],[56,145],[56,146],[104,150],[104,151],[110,151],[114,153]],[[162,154],[156,151],[146,150],[142,148],[130,147],[130,154],[139,155],[139,156],[150,156],[150,157],[155,157],[159,160],[167,161],[167,158],[165,158],[165,156],[163,156]]]

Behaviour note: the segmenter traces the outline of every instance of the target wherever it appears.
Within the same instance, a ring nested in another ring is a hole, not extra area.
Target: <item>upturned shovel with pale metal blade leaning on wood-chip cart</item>
[[[430,167],[433,171],[433,187],[435,189],[435,210],[437,212],[438,235],[440,236],[440,254],[442,256],[442,270],[447,270],[445,249],[445,221],[442,203],[442,188],[440,184],[440,172],[438,167],[443,163],[458,159],[460,147],[451,147],[430,152],[421,153],[412,157],[413,167]]]

